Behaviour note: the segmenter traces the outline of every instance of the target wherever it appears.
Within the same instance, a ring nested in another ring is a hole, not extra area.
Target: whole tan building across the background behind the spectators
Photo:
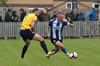
[[[74,8],[92,8],[100,4],[100,0],[8,0],[6,7],[18,8],[72,8],[72,2]],[[99,3],[98,3],[99,2]],[[99,5],[100,8],[100,5]]]

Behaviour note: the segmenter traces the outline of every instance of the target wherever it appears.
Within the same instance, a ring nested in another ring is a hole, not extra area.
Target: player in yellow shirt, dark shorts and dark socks
[[[35,8],[33,10],[33,13],[30,13],[26,15],[23,19],[22,25],[21,25],[21,30],[20,30],[20,35],[25,41],[25,45],[22,50],[21,58],[24,58],[24,54],[26,53],[31,40],[38,40],[40,41],[40,45],[45,51],[45,53],[48,53],[46,44],[44,42],[44,38],[38,35],[37,33],[34,33],[34,26],[35,23],[37,22],[37,16],[40,14],[39,9]]]

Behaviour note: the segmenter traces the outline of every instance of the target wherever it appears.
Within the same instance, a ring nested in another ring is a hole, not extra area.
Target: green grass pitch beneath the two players
[[[45,40],[48,49],[54,46]],[[24,59],[19,59],[23,40],[0,40],[0,66],[100,66],[100,39],[64,39],[69,52],[76,51],[77,59],[69,59],[63,52],[45,57],[38,41],[32,41]]]

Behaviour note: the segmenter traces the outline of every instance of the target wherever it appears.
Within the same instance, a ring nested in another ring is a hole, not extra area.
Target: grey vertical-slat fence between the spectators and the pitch
[[[97,22],[73,22],[74,27],[65,26],[63,37],[100,36],[100,21]],[[21,22],[0,22],[0,37],[18,37]],[[37,22],[35,32],[46,37],[48,22]]]

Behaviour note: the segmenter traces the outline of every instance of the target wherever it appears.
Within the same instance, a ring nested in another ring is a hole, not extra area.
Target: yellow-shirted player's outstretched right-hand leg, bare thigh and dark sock
[[[38,35],[38,34],[35,34],[33,40],[38,40],[38,41],[40,41],[41,47],[43,48],[43,50],[45,51],[46,54],[48,53],[48,49],[47,49],[47,46],[46,46],[46,44],[45,44],[45,42],[44,42],[44,38],[43,38],[43,37],[41,37],[41,36]]]

